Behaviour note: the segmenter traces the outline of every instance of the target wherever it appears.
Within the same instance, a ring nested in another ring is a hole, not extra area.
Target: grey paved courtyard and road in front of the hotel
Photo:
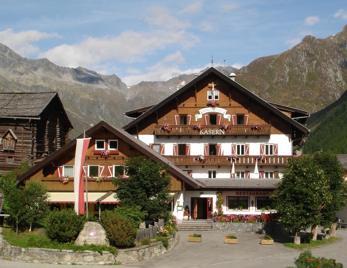
[[[224,244],[226,232],[202,231],[202,242],[188,242],[189,234],[192,231],[179,231],[179,241],[174,249],[163,256],[136,262],[129,267],[273,267],[281,268],[294,264],[294,258],[300,254],[298,250],[287,248],[275,239],[274,245],[260,245],[261,235],[257,234],[235,234],[238,237],[238,244]],[[313,249],[316,257],[334,258],[347,266],[347,231],[338,230],[337,234],[342,240],[325,245],[321,248]],[[56,265],[23,263],[0,260],[1,268],[52,268]],[[59,265],[59,268],[70,265]],[[79,266],[81,267],[81,266]],[[105,267],[105,266],[83,266],[83,267]]]

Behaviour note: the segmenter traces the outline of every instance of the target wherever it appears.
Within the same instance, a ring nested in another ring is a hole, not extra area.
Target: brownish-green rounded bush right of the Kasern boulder
[[[135,243],[137,232],[131,220],[118,214],[115,210],[102,211],[100,220],[112,245],[129,247]]]

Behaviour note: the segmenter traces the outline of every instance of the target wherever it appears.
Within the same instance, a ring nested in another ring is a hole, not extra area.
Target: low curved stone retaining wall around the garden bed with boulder
[[[169,247],[166,249],[161,241],[144,245],[138,248],[118,250],[117,256],[113,256],[108,251],[93,252],[58,250],[58,249],[39,249],[39,248],[20,248],[10,245],[2,236],[0,228],[0,258],[19,262],[34,263],[53,263],[53,264],[81,264],[81,265],[103,265],[108,263],[132,263],[158,257],[175,247],[178,241],[178,233],[169,236]]]

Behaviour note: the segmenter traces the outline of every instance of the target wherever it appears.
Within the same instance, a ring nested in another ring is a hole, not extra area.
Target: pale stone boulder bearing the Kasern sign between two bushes
[[[75,244],[83,245],[84,243],[88,245],[110,245],[105,229],[97,222],[86,222],[84,224],[83,230],[79,233]]]

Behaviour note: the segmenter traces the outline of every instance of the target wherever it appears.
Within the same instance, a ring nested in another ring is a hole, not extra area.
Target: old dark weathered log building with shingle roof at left
[[[71,129],[57,92],[0,93],[0,173],[56,152]]]

